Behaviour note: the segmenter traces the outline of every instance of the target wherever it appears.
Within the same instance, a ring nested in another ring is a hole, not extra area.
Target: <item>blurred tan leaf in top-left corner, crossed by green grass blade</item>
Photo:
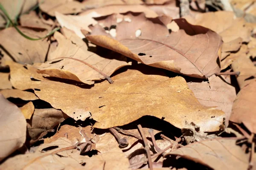
[[[37,0],[0,0],[0,3],[9,14],[11,20],[14,20],[20,14],[24,14],[36,6]],[[0,28],[5,26],[7,20],[3,12],[0,11]]]

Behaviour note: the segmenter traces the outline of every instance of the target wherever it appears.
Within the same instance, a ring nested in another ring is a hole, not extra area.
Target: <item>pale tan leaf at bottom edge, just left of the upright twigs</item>
[[[106,153],[94,155],[85,159],[86,170],[129,170],[129,159],[122,150],[115,147]]]

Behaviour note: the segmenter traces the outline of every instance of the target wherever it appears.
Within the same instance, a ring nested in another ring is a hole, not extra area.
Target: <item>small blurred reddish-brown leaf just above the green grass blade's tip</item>
[[[20,25],[29,28],[41,28],[51,31],[54,22],[51,19],[44,20],[44,18],[38,17],[35,11],[30,11],[29,14],[23,14],[20,16]]]

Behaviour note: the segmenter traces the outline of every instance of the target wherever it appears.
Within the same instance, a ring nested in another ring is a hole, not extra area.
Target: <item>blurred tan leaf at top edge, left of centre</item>
[[[38,2],[39,8],[52,17],[55,16],[55,11],[62,14],[76,14],[81,12],[84,7],[77,0],[38,0]]]

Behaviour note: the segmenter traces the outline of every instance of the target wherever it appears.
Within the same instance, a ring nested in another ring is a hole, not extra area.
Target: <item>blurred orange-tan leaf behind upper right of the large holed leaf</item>
[[[224,42],[230,42],[241,37],[243,42],[250,41],[252,28],[245,25],[244,18],[236,18],[230,11],[207,12],[195,15],[195,18],[185,16],[189,23],[204,26],[217,32]],[[218,23],[218,24],[212,24]]]

